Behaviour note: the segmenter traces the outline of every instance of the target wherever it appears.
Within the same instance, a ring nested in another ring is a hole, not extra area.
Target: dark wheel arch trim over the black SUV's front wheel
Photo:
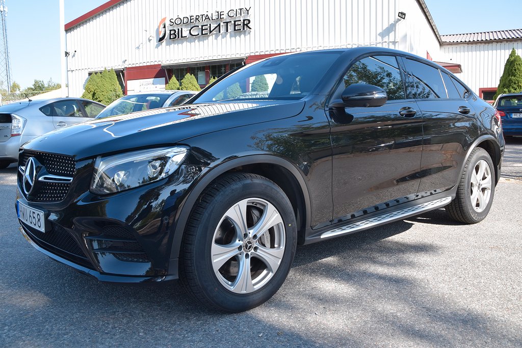
[[[192,189],[183,202],[175,224],[170,259],[177,259],[185,232],[197,198],[215,179],[230,172],[244,172],[264,176],[275,182],[287,195],[298,222],[298,243],[304,242],[304,231],[310,224],[310,196],[301,171],[292,163],[274,155],[250,155],[233,159],[213,167]]]

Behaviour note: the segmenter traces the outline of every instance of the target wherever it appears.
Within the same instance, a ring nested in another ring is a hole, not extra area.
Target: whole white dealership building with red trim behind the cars
[[[498,84],[509,45],[522,50],[522,32],[509,44],[446,43],[423,0],[111,0],[65,30],[70,96],[104,68],[116,71],[126,93],[164,89],[187,73],[203,87],[265,57],[353,46],[428,57],[461,71],[478,93]]]

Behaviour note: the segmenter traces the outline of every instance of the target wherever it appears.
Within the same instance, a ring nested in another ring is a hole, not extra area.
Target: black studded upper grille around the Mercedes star
[[[26,150],[20,154],[19,165],[25,166],[27,160],[31,157],[37,159],[49,174],[74,177],[76,173],[76,162],[74,158],[61,154]],[[19,173],[18,177],[21,182],[21,173]],[[69,187],[69,183],[39,182],[38,186],[34,187],[35,192],[31,193],[32,197],[30,200],[42,203],[60,202],[67,196]]]

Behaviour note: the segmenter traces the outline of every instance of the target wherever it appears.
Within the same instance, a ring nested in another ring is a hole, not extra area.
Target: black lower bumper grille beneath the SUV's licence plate
[[[52,229],[48,232],[40,232],[31,226],[22,224],[23,229],[29,233],[29,236],[41,248],[51,251],[65,259],[71,260],[81,265],[92,267],[84,251],[76,242],[76,239],[67,232],[62,226],[52,224]]]

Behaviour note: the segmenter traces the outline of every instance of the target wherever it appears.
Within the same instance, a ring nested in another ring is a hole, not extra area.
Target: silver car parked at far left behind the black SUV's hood
[[[93,119],[104,107],[81,98],[28,100],[0,106],[0,169],[18,162],[18,149],[23,143]]]

